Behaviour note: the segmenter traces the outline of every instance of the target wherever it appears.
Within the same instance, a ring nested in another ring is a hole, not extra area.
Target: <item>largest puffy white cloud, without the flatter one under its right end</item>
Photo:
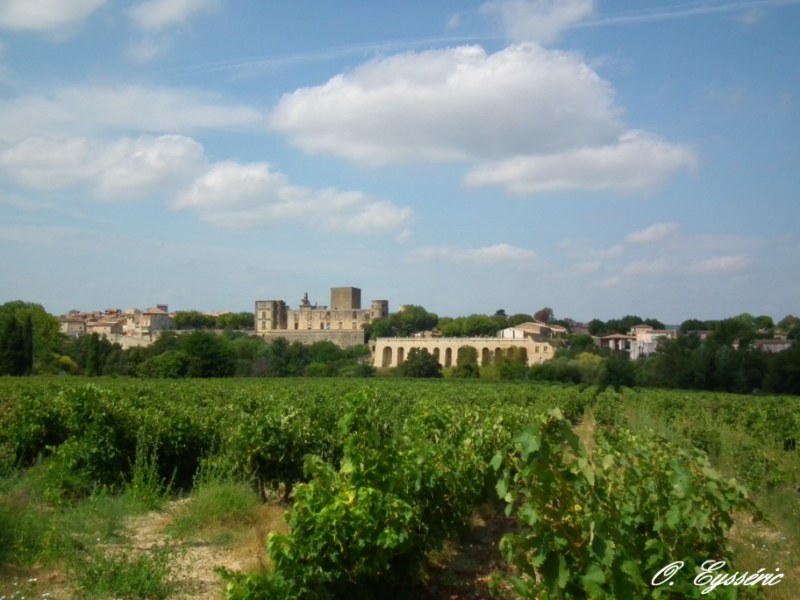
[[[285,95],[269,119],[311,154],[379,166],[566,152],[622,133],[611,86],[533,45],[409,52]]]

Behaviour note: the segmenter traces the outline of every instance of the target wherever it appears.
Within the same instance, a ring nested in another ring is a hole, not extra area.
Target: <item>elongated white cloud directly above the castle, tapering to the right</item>
[[[212,165],[173,203],[204,221],[228,228],[295,223],[356,234],[405,227],[408,207],[356,191],[313,190],[293,185],[267,163],[226,161]]]

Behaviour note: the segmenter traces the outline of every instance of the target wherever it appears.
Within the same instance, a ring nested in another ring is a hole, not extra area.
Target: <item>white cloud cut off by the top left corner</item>
[[[3,0],[0,27],[22,31],[56,32],[74,27],[106,0]]]

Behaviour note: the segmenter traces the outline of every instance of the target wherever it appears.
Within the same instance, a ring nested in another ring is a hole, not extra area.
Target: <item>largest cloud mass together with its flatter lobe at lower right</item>
[[[375,60],[285,95],[268,122],[305,152],[367,166],[473,162],[466,185],[518,195],[649,192],[694,166],[689,146],[619,117],[579,57],[516,44]]]

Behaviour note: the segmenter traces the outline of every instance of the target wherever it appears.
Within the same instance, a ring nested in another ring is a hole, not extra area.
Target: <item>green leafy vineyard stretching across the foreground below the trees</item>
[[[499,597],[789,598],[798,434],[792,397],[5,378],[0,597],[58,571],[65,598],[178,593],[162,548],[103,551],[120,536],[110,515],[120,499],[126,514],[196,503],[225,481],[283,507],[286,522],[264,533],[263,568],[219,569],[229,600],[433,597],[431,557],[480,511],[512,524],[485,582]],[[232,518],[239,505],[225,502]],[[108,587],[112,571],[127,588]]]

